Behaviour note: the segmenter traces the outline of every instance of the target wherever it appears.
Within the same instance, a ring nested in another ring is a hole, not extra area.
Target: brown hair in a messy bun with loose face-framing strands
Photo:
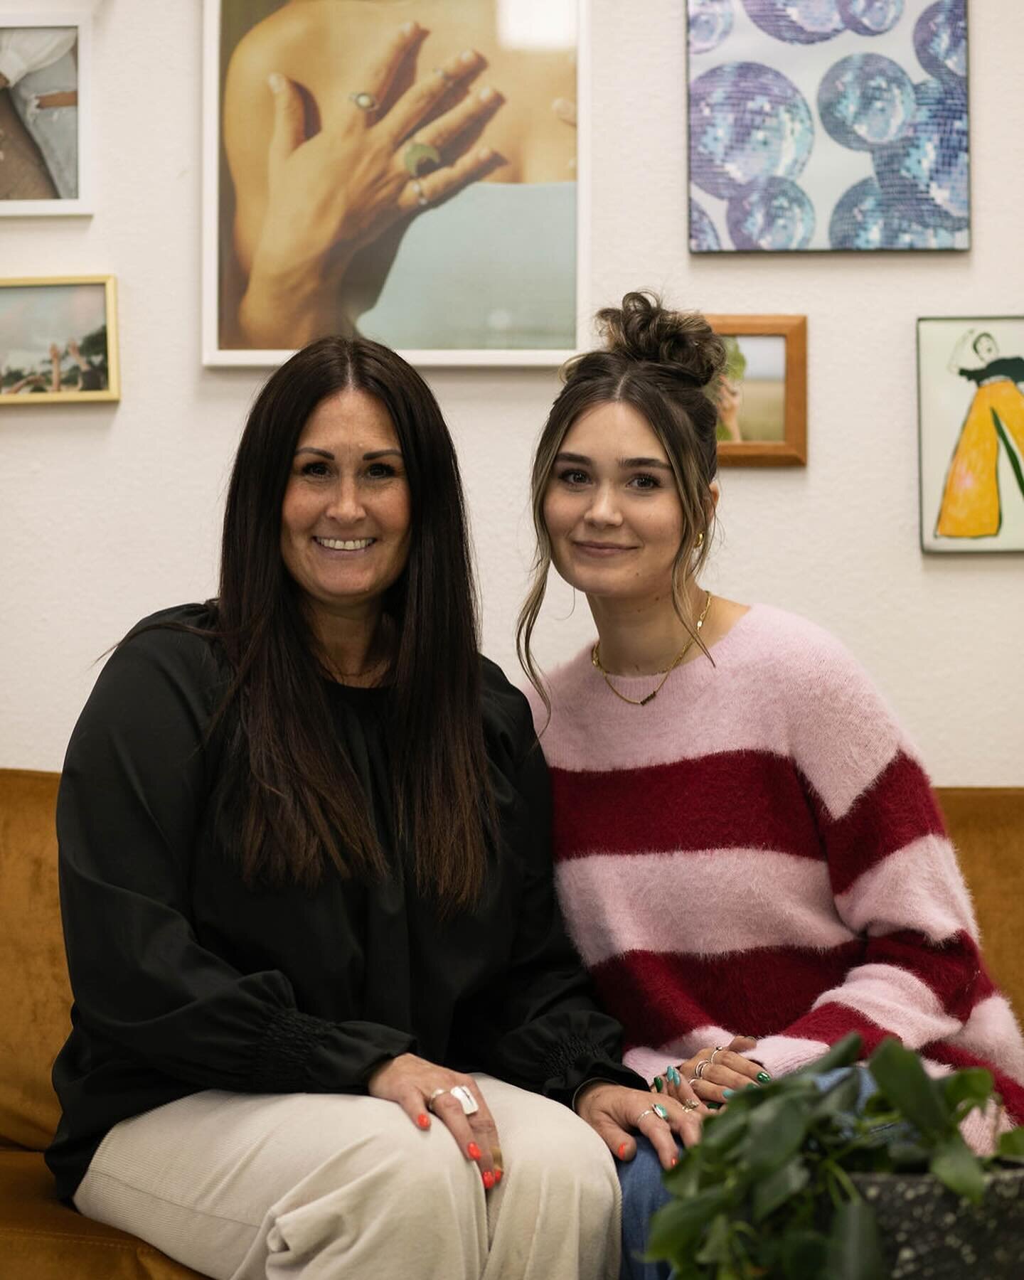
[[[552,564],[544,498],[558,451],[572,424],[595,404],[621,402],[643,415],[672,467],[682,507],[682,540],[672,564],[672,604],[695,644],[704,650],[684,588],[704,566],[710,547],[718,470],[718,410],[712,398],[726,367],[726,347],[696,311],[671,311],[657,294],[627,293],[621,307],[596,315],[605,347],[564,366],[564,385],[540,433],[530,477],[536,554],[516,627],[520,664],[550,714],[550,699],[530,649]]]

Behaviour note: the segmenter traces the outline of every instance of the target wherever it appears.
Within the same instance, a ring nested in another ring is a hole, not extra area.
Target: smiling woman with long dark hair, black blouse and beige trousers
[[[669,1165],[698,1103],[621,1065],[548,820],[436,402],[316,342],[250,415],[216,600],[140,623],[72,737],[60,1194],[234,1280],[613,1275],[608,1146]]]

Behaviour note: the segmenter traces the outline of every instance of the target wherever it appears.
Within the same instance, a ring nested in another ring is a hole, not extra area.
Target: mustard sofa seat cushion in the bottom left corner
[[[151,1244],[82,1217],[54,1196],[35,1151],[0,1151],[0,1274],[31,1280],[197,1280]]]

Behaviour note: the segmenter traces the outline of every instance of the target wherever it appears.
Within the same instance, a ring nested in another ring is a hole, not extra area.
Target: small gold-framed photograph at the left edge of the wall
[[[0,408],[116,399],[114,276],[0,280]]]

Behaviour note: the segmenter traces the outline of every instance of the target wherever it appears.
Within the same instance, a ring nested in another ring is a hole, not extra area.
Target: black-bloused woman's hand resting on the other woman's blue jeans
[[[689,1107],[685,1102],[690,1103]],[[654,1110],[655,1106],[664,1111],[664,1116]],[[650,1139],[662,1167],[671,1169],[678,1161],[676,1135],[687,1147],[700,1142],[700,1126],[707,1110],[686,1088],[678,1096],[653,1098],[649,1093],[626,1088],[625,1084],[598,1080],[586,1085],[576,1098],[576,1114],[586,1120],[620,1160],[632,1160],[636,1155],[632,1130],[637,1129]]]

